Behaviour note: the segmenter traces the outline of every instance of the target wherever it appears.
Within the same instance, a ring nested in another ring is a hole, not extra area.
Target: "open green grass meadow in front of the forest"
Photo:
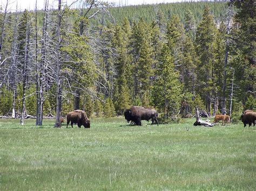
[[[256,126],[194,121],[56,129],[0,119],[0,190],[256,190]]]

